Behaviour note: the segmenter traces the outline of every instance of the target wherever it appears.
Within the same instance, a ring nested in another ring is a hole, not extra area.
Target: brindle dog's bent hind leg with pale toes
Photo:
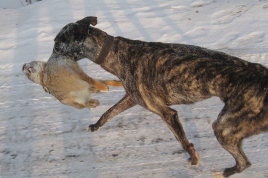
[[[236,165],[220,171],[212,171],[214,178],[227,178],[233,174],[241,173],[251,163],[242,149],[244,138],[253,135],[247,123],[240,122],[235,113],[228,113],[224,108],[218,119],[213,122],[212,128],[221,146],[226,149],[235,159]],[[249,123],[248,123],[249,124]],[[249,124],[250,125],[250,124]]]

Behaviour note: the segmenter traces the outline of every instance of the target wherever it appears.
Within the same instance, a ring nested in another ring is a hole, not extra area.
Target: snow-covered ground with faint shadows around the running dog
[[[165,123],[135,106],[96,133],[85,128],[124,95],[96,94],[91,111],[61,104],[21,72],[46,61],[67,23],[97,16],[113,36],[186,43],[216,49],[268,67],[268,0],[42,0],[0,9],[0,178],[210,178],[235,162],[217,142],[211,123],[218,98],[173,106],[201,156],[187,163]],[[93,62],[79,61],[97,79],[116,79]],[[231,178],[268,178],[268,134],[246,139],[252,166]]]

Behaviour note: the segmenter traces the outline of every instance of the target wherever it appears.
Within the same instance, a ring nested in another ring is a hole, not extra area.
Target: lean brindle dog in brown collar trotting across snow
[[[219,97],[225,106],[213,122],[216,138],[236,165],[213,171],[227,178],[250,166],[244,138],[268,131],[268,69],[206,48],[112,37],[90,26],[96,17],[69,23],[57,34],[51,59],[88,58],[123,83],[126,95],[88,127],[97,131],[119,113],[139,104],[159,115],[197,164],[199,156],[185,135],[173,104]]]

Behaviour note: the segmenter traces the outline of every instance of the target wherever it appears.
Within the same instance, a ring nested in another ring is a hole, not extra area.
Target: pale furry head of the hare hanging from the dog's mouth
[[[40,72],[43,70],[46,62],[34,60],[30,63],[23,64],[22,72],[27,78],[35,83],[40,84]]]

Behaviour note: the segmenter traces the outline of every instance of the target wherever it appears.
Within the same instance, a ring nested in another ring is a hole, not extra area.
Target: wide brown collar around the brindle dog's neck
[[[103,62],[103,60],[107,57],[107,55],[110,51],[110,48],[113,45],[114,39],[115,39],[115,37],[107,34],[106,39],[104,41],[104,44],[102,45],[102,48],[100,50],[100,53],[98,54],[98,56],[94,60],[95,63],[100,65]]]

